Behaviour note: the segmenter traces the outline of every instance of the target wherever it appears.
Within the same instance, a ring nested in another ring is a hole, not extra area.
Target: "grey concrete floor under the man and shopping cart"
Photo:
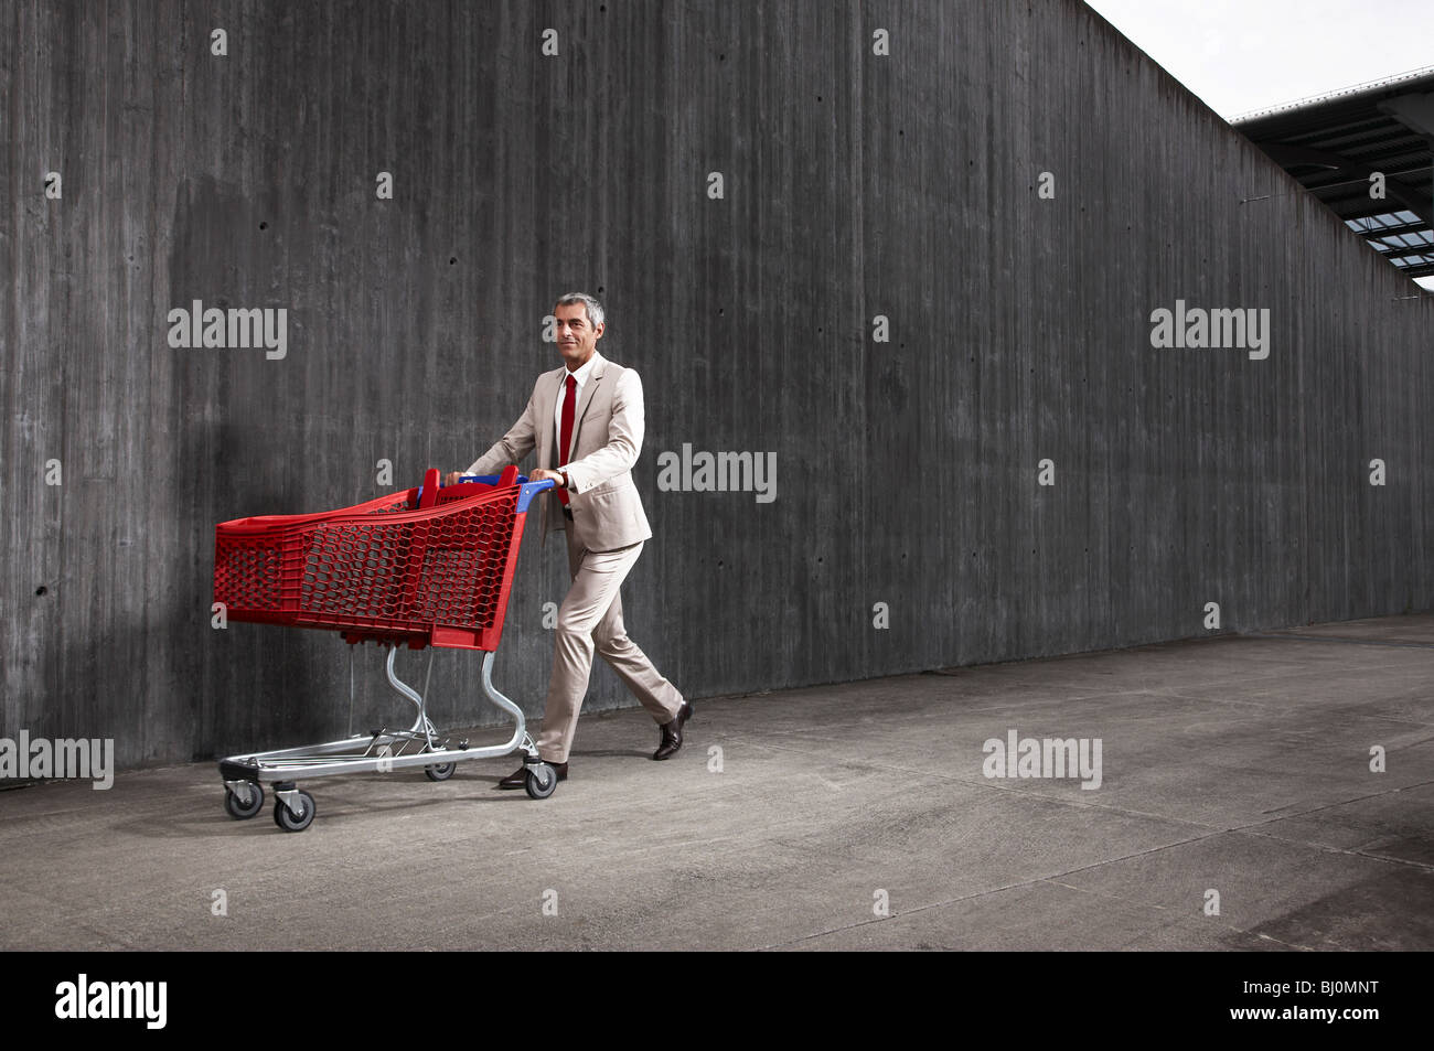
[[[984,777],[1011,728],[1100,738],[1101,786]],[[0,948],[1434,949],[1434,615],[713,698],[655,744],[585,717],[543,802],[511,760],[310,781],[298,834],[209,763],[0,791]]]

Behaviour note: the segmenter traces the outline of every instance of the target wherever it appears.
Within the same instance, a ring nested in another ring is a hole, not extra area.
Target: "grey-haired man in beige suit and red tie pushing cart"
[[[558,485],[542,498],[542,538],[546,543],[551,531],[566,533],[572,586],[558,611],[538,754],[565,781],[594,650],[661,727],[652,758],[671,758],[683,747],[683,726],[693,717],[693,705],[622,628],[619,589],[652,536],[631,475],[642,450],[642,381],[632,368],[598,353],[607,324],[594,297],[568,293],[554,315],[562,367],[538,377],[518,423],[465,473],[496,475],[536,447],[542,466],[529,477]],[[447,483],[457,477],[457,472],[449,475]],[[526,776],[526,767],[519,767],[498,787],[521,789]]]

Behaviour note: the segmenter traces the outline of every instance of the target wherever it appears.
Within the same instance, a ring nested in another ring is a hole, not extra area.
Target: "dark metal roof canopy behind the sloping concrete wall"
[[[1410,278],[1434,274],[1434,67],[1232,123]]]

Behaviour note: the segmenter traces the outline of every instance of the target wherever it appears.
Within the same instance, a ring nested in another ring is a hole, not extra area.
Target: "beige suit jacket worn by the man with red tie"
[[[642,499],[632,482],[632,466],[642,452],[642,380],[632,368],[592,351],[592,373],[572,420],[568,453],[568,492],[574,538],[588,551],[617,551],[651,539]],[[469,475],[498,475],[521,463],[535,447],[539,467],[558,466],[558,433],[554,407],[568,376],[566,366],[543,373],[533,384],[518,423],[473,460]],[[555,492],[541,503],[542,539],[568,523]]]

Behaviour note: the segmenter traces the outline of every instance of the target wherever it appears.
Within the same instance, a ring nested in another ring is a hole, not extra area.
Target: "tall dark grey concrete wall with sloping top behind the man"
[[[373,647],[351,701],[336,635],[209,627],[214,525],[465,466],[569,288],[645,384],[624,604],[693,697],[1434,605],[1428,301],[1074,0],[0,17],[6,736],[133,766],[397,713]],[[1268,308],[1269,357],[1153,348],[1177,298]],[[192,300],[287,308],[287,357],[172,348]],[[661,492],[683,443],[776,453],[777,499]],[[529,711],[564,589],[531,536]],[[476,670],[437,654],[440,720]]]

